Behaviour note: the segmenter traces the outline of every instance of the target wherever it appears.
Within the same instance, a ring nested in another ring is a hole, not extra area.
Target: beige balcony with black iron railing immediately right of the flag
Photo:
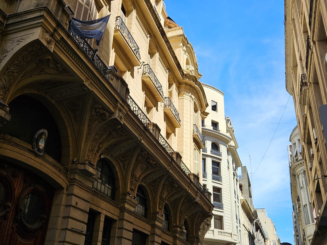
[[[115,29],[113,36],[115,41],[121,46],[121,50],[124,50],[125,55],[129,58],[133,66],[139,66],[141,55],[139,46],[137,46],[135,40],[127,29],[123,19],[120,16],[116,17]]]

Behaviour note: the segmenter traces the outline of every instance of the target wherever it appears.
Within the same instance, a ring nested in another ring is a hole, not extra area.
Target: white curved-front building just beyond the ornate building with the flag
[[[237,168],[241,166],[234,129],[224,112],[224,93],[202,84],[210,111],[202,120],[202,182],[214,204],[211,228],[204,244],[242,244],[241,204]],[[210,107],[211,104],[211,107]]]

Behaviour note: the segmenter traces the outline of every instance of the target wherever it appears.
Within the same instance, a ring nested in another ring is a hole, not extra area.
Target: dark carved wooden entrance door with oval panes
[[[0,159],[0,245],[44,244],[53,193],[36,174]]]

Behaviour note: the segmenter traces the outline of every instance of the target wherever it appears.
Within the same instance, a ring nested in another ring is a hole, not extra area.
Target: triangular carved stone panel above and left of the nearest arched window
[[[106,121],[111,117],[111,114],[102,106],[96,99],[94,99],[90,119],[86,131],[86,139],[89,138],[90,132],[101,122]]]

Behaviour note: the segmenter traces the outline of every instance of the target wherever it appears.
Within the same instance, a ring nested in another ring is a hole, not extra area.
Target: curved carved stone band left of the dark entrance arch
[[[37,57],[42,56],[46,52],[44,46],[40,43],[33,44],[27,47],[20,55],[11,62],[5,69],[3,74],[0,74],[0,100],[5,102],[5,97],[12,83],[21,74],[26,65],[34,62]]]

